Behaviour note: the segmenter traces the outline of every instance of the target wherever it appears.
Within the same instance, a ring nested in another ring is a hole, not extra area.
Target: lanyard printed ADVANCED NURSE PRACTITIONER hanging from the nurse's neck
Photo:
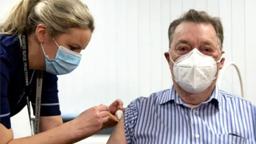
[[[31,129],[31,135],[33,135],[32,124],[31,124],[31,110],[29,97],[31,95],[31,86],[29,83],[29,62],[28,62],[28,37],[26,34],[21,35],[21,54],[23,60],[23,72],[25,76],[25,93],[27,99],[28,107],[28,117]],[[31,77],[32,79],[33,77]],[[39,133],[39,116],[40,116],[40,106],[41,106],[41,92],[42,92],[42,82],[43,82],[43,71],[37,71],[37,86],[36,86],[36,108],[35,108],[35,134]]]

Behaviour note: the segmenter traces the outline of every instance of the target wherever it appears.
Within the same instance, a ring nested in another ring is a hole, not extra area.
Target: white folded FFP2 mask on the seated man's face
[[[170,57],[172,60],[172,58]],[[201,93],[216,78],[217,63],[209,55],[196,48],[179,57],[173,65],[173,77],[179,86],[189,93]]]

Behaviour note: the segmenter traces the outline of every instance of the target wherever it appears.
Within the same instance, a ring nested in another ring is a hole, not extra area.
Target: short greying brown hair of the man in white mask
[[[188,12],[184,13],[180,18],[172,21],[172,23],[170,24],[168,29],[169,49],[171,48],[170,46],[172,43],[174,31],[181,22],[211,23],[217,33],[220,50],[222,50],[224,35],[223,26],[220,18],[211,17],[211,15],[209,15],[205,11],[196,11],[194,9],[191,9]]]

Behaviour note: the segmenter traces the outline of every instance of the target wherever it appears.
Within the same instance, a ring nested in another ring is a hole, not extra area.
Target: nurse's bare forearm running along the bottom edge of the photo
[[[76,126],[72,125],[72,121],[64,123],[60,126],[54,127],[49,131],[45,131],[30,137],[13,139],[9,144],[16,143],[75,143],[82,140],[84,135],[75,130]]]

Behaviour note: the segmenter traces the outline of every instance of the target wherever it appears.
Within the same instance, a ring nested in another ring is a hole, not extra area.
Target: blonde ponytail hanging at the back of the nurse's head
[[[40,0],[21,0],[13,7],[9,17],[0,24],[0,34],[20,35],[26,31],[28,15]]]

